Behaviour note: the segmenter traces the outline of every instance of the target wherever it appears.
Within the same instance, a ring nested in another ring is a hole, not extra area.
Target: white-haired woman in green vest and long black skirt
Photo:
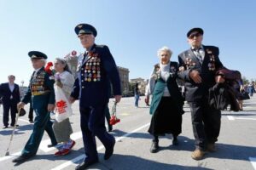
[[[183,97],[177,86],[177,62],[170,61],[171,49],[160,48],[160,63],[154,65],[146,88],[146,99],[152,94],[149,113],[152,115],[148,133],[154,136],[151,153],[159,150],[159,136],[172,133],[172,144],[177,144],[177,135],[182,131]]]

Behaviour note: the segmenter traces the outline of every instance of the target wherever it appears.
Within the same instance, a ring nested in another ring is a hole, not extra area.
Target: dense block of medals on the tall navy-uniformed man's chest
[[[88,60],[88,62],[85,64],[84,81],[101,81],[100,63],[101,59],[96,57],[92,57],[90,60]]]

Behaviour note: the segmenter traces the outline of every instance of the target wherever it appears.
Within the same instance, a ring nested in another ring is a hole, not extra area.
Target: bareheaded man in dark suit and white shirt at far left
[[[15,117],[18,112],[17,104],[20,102],[20,90],[19,85],[15,84],[15,76],[9,75],[8,81],[0,84],[0,98],[3,102],[3,128],[9,126],[9,111],[11,115],[10,126],[15,126]]]

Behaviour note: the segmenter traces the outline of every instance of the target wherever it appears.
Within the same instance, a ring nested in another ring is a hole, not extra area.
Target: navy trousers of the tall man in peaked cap
[[[105,127],[106,106],[107,104],[97,107],[80,107],[80,126],[83,134],[85,159],[88,161],[98,159],[95,136],[100,139],[107,150],[112,147],[114,142],[113,136],[107,132]]]

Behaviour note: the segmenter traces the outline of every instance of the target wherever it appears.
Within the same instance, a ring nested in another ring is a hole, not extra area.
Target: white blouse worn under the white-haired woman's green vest
[[[160,70],[159,70],[160,71],[160,77],[164,81],[167,81],[167,79],[170,77],[170,64],[171,64],[170,61],[166,65],[163,65],[163,64],[160,63]],[[149,96],[154,91],[155,75],[156,75],[156,72],[153,70],[149,79],[148,79],[148,85],[146,86],[146,93],[145,93],[146,96]],[[167,86],[164,90],[163,96],[171,96]]]

